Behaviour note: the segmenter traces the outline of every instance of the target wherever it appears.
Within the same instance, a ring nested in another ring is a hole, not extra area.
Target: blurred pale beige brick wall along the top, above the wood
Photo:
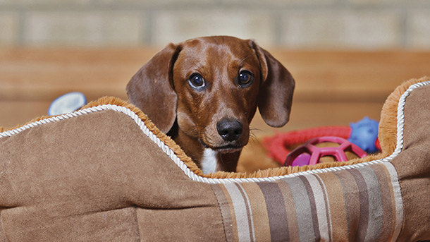
[[[163,46],[202,35],[290,49],[430,49],[430,1],[0,0],[0,47]]]

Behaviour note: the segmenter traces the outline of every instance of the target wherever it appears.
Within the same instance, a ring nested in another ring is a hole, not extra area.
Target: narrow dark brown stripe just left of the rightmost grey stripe
[[[357,241],[364,241],[367,233],[367,224],[369,223],[369,194],[367,193],[366,181],[360,171],[357,169],[348,169],[348,172],[354,177],[355,183],[358,186],[358,194],[360,197],[360,224],[358,224]]]

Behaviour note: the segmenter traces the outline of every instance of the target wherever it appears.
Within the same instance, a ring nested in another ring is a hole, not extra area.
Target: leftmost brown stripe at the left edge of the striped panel
[[[226,233],[226,241],[235,241],[235,236],[233,234],[233,227],[231,224],[232,222],[232,216],[231,216],[231,208],[228,205],[228,199],[226,198],[226,194],[222,187],[223,185],[214,184],[211,186],[212,190],[214,190],[214,193],[216,195],[216,199],[218,200],[219,206],[221,208],[221,216],[223,217],[223,224],[224,224],[224,232]]]

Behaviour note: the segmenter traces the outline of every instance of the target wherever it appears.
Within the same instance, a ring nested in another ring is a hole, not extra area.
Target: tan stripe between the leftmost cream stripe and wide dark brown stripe
[[[250,199],[252,220],[254,221],[254,231],[256,241],[270,240],[269,216],[266,209],[266,201],[262,190],[257,183],[241,183],[242,188],[252,198]]]

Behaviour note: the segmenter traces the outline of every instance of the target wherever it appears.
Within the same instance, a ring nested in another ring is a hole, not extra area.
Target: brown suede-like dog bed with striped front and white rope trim
[[[133,105],[0,128],[0,241],[430,239],[430,78],[386,100],[383,152],[204,175]]]

